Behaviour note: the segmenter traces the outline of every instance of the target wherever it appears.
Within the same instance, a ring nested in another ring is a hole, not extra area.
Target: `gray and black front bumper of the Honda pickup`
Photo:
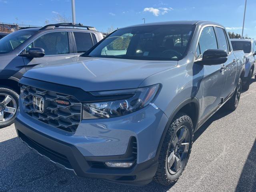
[[[58,167],[82,177],[124,184],[152,181],[158,166],[156,150],[167,123],[164,113],[153,106],[121,118],[82,121],[75,134],[53,128],[18,112],[15,127],[20,139]],[[129,158],[130,138],[136,138],[136,162],[131,168],[92,166],[92,162],[120,162]]]

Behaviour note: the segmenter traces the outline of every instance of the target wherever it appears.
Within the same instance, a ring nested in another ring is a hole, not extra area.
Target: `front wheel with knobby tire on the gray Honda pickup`
[[[154,181],[170,185],[178,180],[188,162],[193,136],[191,118],[184,113],[178,113],[164,138]]]

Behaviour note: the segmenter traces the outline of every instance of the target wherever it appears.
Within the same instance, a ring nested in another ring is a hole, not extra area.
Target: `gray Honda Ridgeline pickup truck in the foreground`
[[[15,127],[70,173],[169,185],[188,162],[194,132],[224,104],[238,106],[244,60],[217,23],[121,28],[82,56],[26,72]]]

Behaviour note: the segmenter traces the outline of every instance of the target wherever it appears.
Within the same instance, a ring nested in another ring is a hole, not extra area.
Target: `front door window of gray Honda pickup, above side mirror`
[[[204,54],[204,51],[206,51],[207,49],[218,49],[213,27],[206,27],[202,30],[199,44],[201,54]]]

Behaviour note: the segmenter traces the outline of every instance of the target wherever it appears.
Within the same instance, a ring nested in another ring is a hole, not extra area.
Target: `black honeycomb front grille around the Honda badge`
[[[22,85],[23,110],[32,118],[68,132],[75,132],[81,121],[82,104],[73,96]],[[33,98],[44,100],[43,112],[34,108]]]

